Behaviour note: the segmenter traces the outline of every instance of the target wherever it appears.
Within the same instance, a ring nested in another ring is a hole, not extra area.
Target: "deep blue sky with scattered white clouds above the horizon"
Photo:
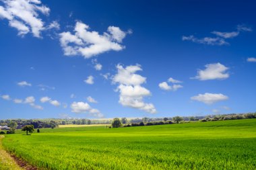
[[[0,119],[255,112],[253,1],[0,1]]]

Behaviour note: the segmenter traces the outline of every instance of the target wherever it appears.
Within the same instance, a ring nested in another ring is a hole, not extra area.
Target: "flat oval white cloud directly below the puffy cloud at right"
[[[228,96],[222,93],[204,93],[191,97],[192,100],[201,101],[205,104],[212,104],[218,101],[224,101],[228,99]]]

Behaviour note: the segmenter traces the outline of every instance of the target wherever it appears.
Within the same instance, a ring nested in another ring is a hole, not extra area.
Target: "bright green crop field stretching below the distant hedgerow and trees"
[[[42,129],[3,146],[41,169],[256,169],[256,119]]]

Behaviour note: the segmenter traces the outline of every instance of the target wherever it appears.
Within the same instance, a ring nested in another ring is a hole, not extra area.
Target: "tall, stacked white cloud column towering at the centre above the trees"
[[[142,71],[140,65],[131,65],[125,68],[122,65],[117,65],[117,74],[113,77],[113,83],[119,83],[117,87],[117,91],[120,93],[119,103],[155,114],[154,105],[143,101],[143,97],[150,96],[151,93],[141,86],[141,84],[146,83],[146,77],[135,74],[137,71]]]

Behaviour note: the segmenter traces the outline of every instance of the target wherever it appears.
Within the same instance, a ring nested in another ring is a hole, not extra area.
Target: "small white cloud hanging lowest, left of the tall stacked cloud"
[[[96,118],[103,118],[103,114],[99,110],[92,108],[88,103],[82,101],[71,103],[71,112],[76,114],[88,114]]]

